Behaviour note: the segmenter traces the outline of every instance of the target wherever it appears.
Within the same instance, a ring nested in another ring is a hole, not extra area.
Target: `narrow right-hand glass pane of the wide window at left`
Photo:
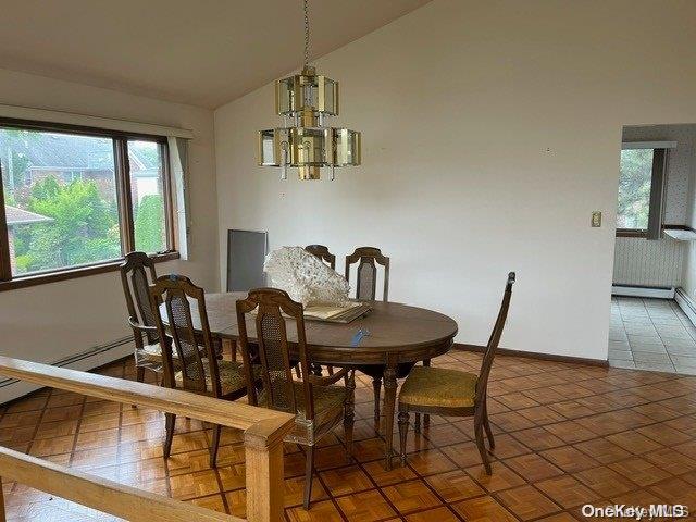
[[[128,140],[135,249],[166,250],[162,148],[154,141]]]

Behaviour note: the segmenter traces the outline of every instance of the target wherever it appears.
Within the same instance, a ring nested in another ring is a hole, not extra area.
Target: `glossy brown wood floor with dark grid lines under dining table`
[[[434,362],[468,371],[478,363],[480,356],[459,351]],[[130,361],[101,372],[134,374]],[[483,472],[471,420],[443,418],[420,435],[410,430],[409,464],[385,472],[372,386],[359,381],[356,460],[345,460],[340,427],[322,442],[309,512],[300,506],[303,455],[287,446],[287,520],[573,521],[584,520],[586,502],[679,502],[696,512],[694,376],[499,357],[489,383],[493,476]],[[244,515],[239,433],[224,432],[219,468],[211,470],[206,426],[178,420],[173,456],[164,461],[163,425],[157,411],[44,390],[2,410],[0,444]],[[113,520],[20,484],[3,489],[8,520]]]

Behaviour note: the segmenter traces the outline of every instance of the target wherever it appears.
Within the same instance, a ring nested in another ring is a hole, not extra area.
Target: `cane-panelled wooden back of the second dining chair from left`
[[[208,365],[212,396],[221,397],[220,370],[208,324],[204,290],[183,275],[163,275],[150,286],[150,302],[153,310],[159,310],[160,306],[164,304],[166,311],[169,330],[165,330],[160,313],[156,314],[157,328],[162,339],[165,386],[177,387],[172,358],[172,345],[174,345],[178,356],[177,368],[182,372],[181,386],[190,391],[206,393],[204,365]],[[198,323],[194,322],[191,302],[196,303]],[[169,335],[166,335],[167,332]]]

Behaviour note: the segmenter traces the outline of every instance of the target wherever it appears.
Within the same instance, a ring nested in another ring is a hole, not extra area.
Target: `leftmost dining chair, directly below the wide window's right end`
[[[141,383],[146,369],[157,374],[163,371],[162,348],[148,290],[148,285],[157,279],[157,272],[154,262],[145,252],[127,253],[119,270],[135,340],[136,378]],[[142,341],[142,336],[147,344]]]

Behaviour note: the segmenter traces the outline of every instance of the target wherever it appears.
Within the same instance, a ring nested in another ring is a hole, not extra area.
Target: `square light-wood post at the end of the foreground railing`
[[[287,421],[262,421],[245,432],[249,522],[283,520],[283,436],[287,433],[283,424],[287,424]]]

